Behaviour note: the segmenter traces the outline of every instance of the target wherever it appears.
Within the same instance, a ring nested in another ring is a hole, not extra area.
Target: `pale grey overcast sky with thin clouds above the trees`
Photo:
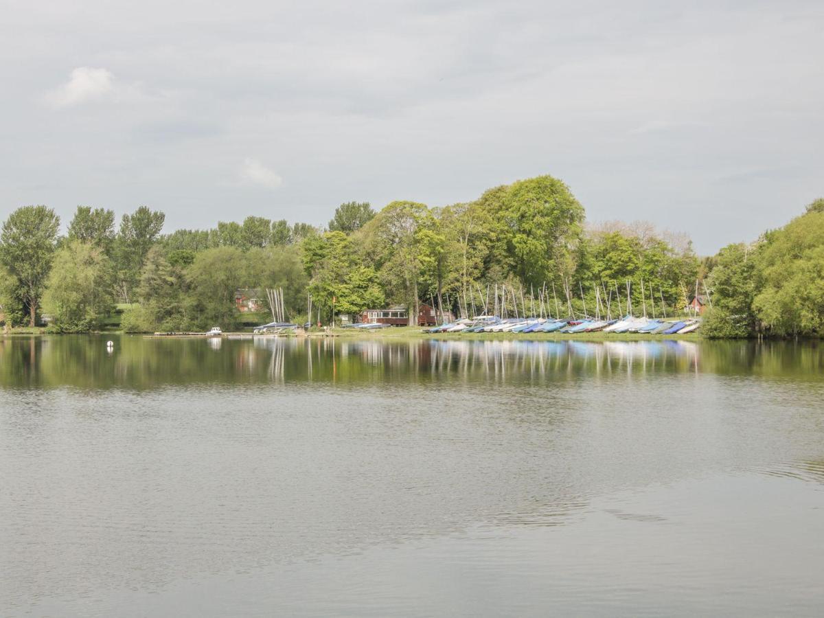
[[[0,218],[321,224],[548,173],[710,253],[824,195],[820,0],[6,0],[0,83]]]

